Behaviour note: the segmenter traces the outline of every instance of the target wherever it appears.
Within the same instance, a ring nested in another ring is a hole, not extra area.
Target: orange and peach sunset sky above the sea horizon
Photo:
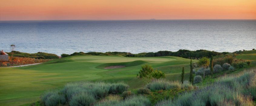
[[[0,20],[256,19],[256,0],[0,0]]]

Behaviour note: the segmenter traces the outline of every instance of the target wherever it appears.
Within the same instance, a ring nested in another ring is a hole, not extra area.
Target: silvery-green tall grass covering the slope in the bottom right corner
[[[159,102],[157,106],[253,106],[255,81],[256,68],[224,76],[212,85]]]

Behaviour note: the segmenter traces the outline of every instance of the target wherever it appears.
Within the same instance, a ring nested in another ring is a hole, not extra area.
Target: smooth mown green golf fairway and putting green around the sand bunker
[[[193,62],[196,62],[193,60]],[[131,89],[145,83],[138,78],[141,65],[151,64],[165,72],[168,80],[180,80],[185,67],[185,80],[189,76],[190,60],[179,57],[122,57],[122,56],[71,56],[48,61],[41,65],[19,68],[0,68],[0,106],[17,106],[37,101],[44,91],[63,87],[73,81],[126,82]],[[104,69],[111,65],[125,68]]]

